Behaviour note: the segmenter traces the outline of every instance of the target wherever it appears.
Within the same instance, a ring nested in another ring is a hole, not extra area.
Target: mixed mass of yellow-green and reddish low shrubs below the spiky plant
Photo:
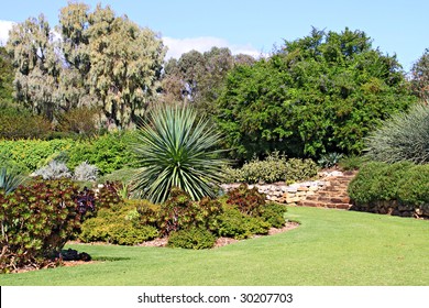
[[[282,228],[285,212],[286,207],[265,204],[263,195],[244,185],[221,199],[199,201],[174,187],[161,205],[136,199],[100,204],[96,217],[84,222],[79,239],[132,245],[161,237],[168,238],[169,246],[207,249],[218,237],[246,239]]]

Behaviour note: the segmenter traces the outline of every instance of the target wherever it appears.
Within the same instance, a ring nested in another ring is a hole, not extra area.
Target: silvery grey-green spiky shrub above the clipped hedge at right
[[[385,120],[366,139],[366,156],[374,161],[395,163],[429,162],[429,107],[415,105],[409,112]]]

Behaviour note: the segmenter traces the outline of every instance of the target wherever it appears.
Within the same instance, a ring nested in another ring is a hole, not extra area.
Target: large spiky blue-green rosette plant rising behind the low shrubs
[[[142,168],[133,178],[133,191],[153,202],[168,198],[178,187],[194,200],[213,197],[223,178],[226,160],[217,148],[221,135],[189,107],[158,107],[150,112],[133,144]]]

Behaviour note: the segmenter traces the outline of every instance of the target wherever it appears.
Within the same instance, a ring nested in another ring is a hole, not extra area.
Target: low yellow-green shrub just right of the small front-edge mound
[[[270,223],[261,218],[246,216],[237,208],[227,208],[219,217],[216,233],[219,237],[243,240],[253,234],[267,234],[270,227]]]

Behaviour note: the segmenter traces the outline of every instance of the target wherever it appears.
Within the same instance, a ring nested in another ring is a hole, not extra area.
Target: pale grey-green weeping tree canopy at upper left
[[[43,15],[12,28],[8,52],[18,101],[54,118],[55,110],[97,107],[114,127],[136,121],[154,99],[165,48],[156,33],[100,4],[70,2],[54,34]]]

